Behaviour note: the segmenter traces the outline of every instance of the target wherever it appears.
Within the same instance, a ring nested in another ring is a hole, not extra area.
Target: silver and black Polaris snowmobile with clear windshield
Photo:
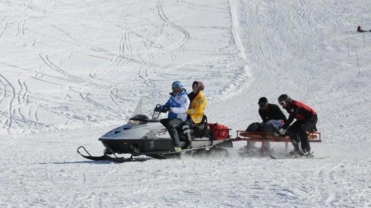
[[[156,106],[158,106],[157,104]],[[183,152],[215,155],[228,155],[226,148],[232,148],[232,139],[214,139],[210,128],[207,125],[207,117],[204,116],[200,124],[191,129],[192,148],[175,151],[173,140],[164,125],[161,112],[154,110],[154,103],[148,97],[141,97],[133,116],[129,121],[102,135],[100,140],[105,149],[102,156],[92,156],[84,146],[80,146],[77,152],[84,158],[90,160],[113,160],[116,162],[135,161],[133,156],[146,155],[152,158],[164,159],[170,155]],[[179,127],[178,135],[181,146],[185,146],[185,137]],[[80,150],[88,155],[84,155]],[[118,157],[116,154],[131,154],[130,158]]]

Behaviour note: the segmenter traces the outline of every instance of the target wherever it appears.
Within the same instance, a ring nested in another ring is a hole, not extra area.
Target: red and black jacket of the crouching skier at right
[[[314,115],[317,116],[317,112],[313,108],[295,100],[292,100],[284,109],[289,113],[287,121],[285,121],[282,126],[284,129],[287,129],[294,119],[298,121],[306,121]]]

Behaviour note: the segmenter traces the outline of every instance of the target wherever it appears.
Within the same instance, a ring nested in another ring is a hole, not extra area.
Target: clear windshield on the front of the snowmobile
[[[154,111],[154,104],[152,99],[148,97],[141,97],[133,115],[130,117],[128,124],[137,126],[141,124],[146,124],[153,120],[160,120],[161,116],[156,114]]]

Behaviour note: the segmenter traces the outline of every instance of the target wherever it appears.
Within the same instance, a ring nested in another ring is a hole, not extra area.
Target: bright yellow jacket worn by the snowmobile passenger
[[[190,118],[195,124],[198,124],[202,121],[203,111],[205,110],[205,107],[206,98],[205,96],[203,96],[202,91],[200,91],[193,99],[187,110],[187,114],[190,115]]]

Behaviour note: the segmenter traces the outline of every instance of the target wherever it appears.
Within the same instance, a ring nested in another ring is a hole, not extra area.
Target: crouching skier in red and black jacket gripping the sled
[[[311,146],[309,144],[307,131],[317,131],[317,112],[304,103],[292,100],[285,94],[278,97],[278,103],[289,113],[289,116],[282,128],[275,133],[275,136],[285,135],[286,131],[288,131],[291,143],[294,146],[294,149],[289,155],[300,154],[309,156],[311,154]],[[294,119],[296,119],[296,121],[290,126]],[[299,142],[301,142],[302,150],[299,149]]]

